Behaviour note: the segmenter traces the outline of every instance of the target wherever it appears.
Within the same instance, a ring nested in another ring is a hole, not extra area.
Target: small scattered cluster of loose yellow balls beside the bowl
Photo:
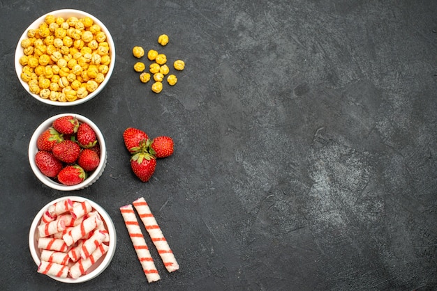
[[[167,45],[168,36],[161,34],[161,36],[158,37],[158,43],[162,46]],[[135,58],[142,58],[145,56],[145,50],[140,46],[133,47],[132,53]],[[142,83],[147,83],[153,77],[154,84],[151,85],[151,91],[154,91],[154,93],[160,93],[163,90],[163,81],[165,80],[165,77],[170,86],[174,86],[177,83],[176,75],[169,74],[170,68],[167,65],[167,56],[165,56],[165,54],[159,54],[155,49],[150,49],[149,52],[147,52],[147,58],[149,61],[154,62],[149,65],[149,72],[145,72],[146,65],[142,61],[135,63],[133,65],[133,70],[141,73],[140,81],[142,81]],[[178,71],[184,70],[184,61],[175,61],[173,63],[173,68]]]

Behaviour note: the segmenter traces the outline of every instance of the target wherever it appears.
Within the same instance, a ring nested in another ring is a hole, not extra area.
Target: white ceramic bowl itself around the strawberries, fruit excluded
[[[46,175],[44,175],[43,173],[41,173],[40,169],[38,168],[38,166],[36,166],[36,163],[35,163],[35,155],[36,155],[36,152],[38,152],[38,148],[36,146],[36,141],[38,140],[38,136],[40,136],[40,134],[45,132],[46,129],[51,127],[54,120],[56,120],[57,118],[59,118],[61,116],[68,116],[68,115],[75,116],[77,118],[77,120],[79,120],[80,123],[88,123],[88,125],[92,129],[94,129],[94,132],[96,132],[97,141],[100,145],[100,150],[101,150],[100,164],[98,164],[98,167],[96,168],[96,170],[93,173],[91,173],[91,175],[89,175],[87,177],[87,179],[85,179],[82,183],[75,184],[73,186],[66,186],[66,185],[61,184],[59,182],[55,182],[51,178],[49,178]],[[57,189],[57,190],[61,190],[61,191],[73,191],[73,190],[79,190],[79,189],[84,189],[86,187],[89,187],[91,184],[94,184],[94,182],[96,182],[98,180],[98,178],[101,177],[103,171],[105,170],[106,162],[107,162],[106,145],[105,145],[105,139],[103,139],[102,132],[100,131],[100,129],[98,129],[98,127],[95,123],[93,123],[91,120],[89,120],[85,116],[81,116],[79,114],[61,113],[61,114],[58,114],[56,116],[52,116],[52,117],[48,118],[43,123],[41,123],[38,126],[38,128],[36,128],[34,134],[31,136],[31,139],[29,142],[29,163],[30,163],[30,166],[32,168],[32,171],[34,171],[36,178],[38,178],[41,182],[43,182],[45,185],[47,185],[48,187],[50,187],[52,189]]]

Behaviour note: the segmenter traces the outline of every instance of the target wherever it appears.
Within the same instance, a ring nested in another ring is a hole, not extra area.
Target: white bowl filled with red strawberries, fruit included
[[[84,189],[106,166],[103,134],[88,118],[61,113],[48,118],[29,142],[29,163],[36,177],[52,189]]]

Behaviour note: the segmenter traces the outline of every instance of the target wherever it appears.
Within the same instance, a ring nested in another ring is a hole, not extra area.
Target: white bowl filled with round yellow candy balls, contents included
[[[36,100],[55,106],[87,102],[108,84],[115,64],[110,31],[80,10],[52,11],[36,19],[15,50],[15,71]]]

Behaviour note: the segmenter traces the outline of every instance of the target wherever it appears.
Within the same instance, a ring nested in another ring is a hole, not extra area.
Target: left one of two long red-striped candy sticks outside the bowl
[[[129,237],[133,244],[133,248],[137,253],[138,260],[140,260],[143,271],[145,272],[147,281],[149,283],[158,281],[161,276],[155,267],[154,260],[151,258],[149,248],[147,247],[144,236],[142,235],[140,225],[138,223],[135,212],[133,212],[132,205],[125,205],[120,207],[121,216],[124,219],[126,228],[128,229]]]

